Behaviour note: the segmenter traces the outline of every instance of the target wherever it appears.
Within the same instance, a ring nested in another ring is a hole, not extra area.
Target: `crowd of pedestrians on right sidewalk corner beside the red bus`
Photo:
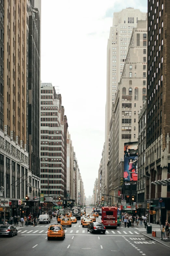
[[[133,216],[132,214],[128,214],[128,213],[123,213],[122,216],[121,216],[121,219],[122,221],[124,222],[124,225],[125,225],[125,228],[126,228],[126,225],[127,227],[134,227],[134,223],[137,224],[137,228],[139,226],[145,226],[145,229],[147,227],[147,215],[142,215],[141,217],[136,215],[136,216]]]

